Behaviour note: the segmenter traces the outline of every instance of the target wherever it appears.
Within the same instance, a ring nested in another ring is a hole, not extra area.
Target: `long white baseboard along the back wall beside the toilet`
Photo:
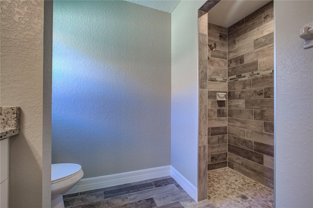
[[[170,175],[171,175],[171,166],[162,166],[125,173],[99,176],[94,178],[84,178],[81,179],[74,187],[68,190],[64,195],[98,188],[134,183],[138,181],[144,181]]]

